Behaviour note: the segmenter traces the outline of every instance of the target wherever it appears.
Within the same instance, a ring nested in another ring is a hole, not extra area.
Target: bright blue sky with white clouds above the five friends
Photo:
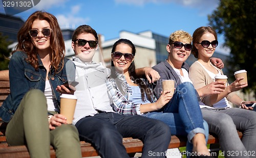
[[[105,40],[117,38],[123,30],[151,30],[168,37],[176,30],[192,35],[198,27],[208,26],[207,15],[218,3],[219,0],[41,0],[34,8],[15,16],[26,20],[36,10],[47,11],[57,17],[61,28],[87,24]],[[0,12],[5,13],[2,4]],[[221,35],[219,43],[223,43]]]

